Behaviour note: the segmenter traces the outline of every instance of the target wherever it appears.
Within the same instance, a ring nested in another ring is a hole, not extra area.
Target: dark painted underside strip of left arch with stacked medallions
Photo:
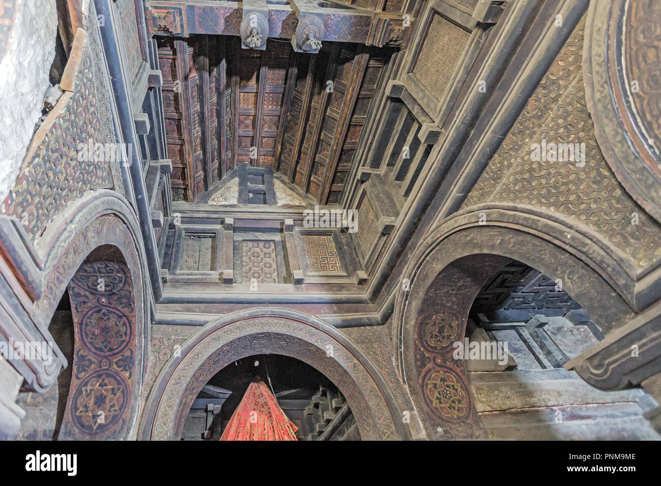
[[[136,309],[119,251],[86,261],[69,282],[75,325],[71,388],[60,439],[118,439],[128,426],[136,374]]]

